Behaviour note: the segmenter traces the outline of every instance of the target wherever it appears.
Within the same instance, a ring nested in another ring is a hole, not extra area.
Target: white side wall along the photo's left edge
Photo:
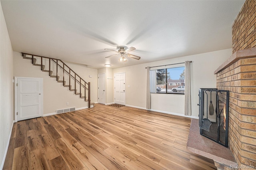
[[[0,2],[1,4],[1,2]],[[12,132],[14,120],[14,95],[13,95],[13,51],[9,34],[0,11],[0,169],[4,165],[4,159],[8,149],[9,138]]]

